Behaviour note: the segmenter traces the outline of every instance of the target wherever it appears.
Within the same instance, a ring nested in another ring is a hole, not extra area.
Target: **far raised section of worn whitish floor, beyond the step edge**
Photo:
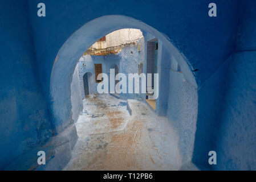
[[[83,114],[76,123],[79,137],[124,130],[129,119],[126,105],[126,101],[117,100],[108,94],[86,96]]]

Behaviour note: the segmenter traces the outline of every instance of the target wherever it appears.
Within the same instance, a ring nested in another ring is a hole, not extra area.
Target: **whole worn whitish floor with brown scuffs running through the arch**
[[[78,142],[64,170],[177,170],[178,137],[147,105],[107,94],[89,96],[76,127]]]

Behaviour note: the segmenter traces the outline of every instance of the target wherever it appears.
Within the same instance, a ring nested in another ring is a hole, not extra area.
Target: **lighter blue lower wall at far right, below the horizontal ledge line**
[[[256,169],[255,57],[256,51],[237,52],[229,63],[215,169]]]

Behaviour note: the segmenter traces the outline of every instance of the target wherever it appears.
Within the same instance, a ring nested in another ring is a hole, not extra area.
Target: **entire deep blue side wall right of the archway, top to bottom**
[[[250,170],[255,166],[255,1],[241,5],[237,47],[198,90],[193,162],[201,169]],[[207,107],[206,107],[207,106]],[[208,152],[218,154],[209,166]],[[202,157],[205,156],[205,157]]]

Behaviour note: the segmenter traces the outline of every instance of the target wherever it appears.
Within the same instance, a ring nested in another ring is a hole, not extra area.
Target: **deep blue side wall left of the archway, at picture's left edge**
[[[38,74],[26,1],[0,2],[0,169],[54,135]]]

